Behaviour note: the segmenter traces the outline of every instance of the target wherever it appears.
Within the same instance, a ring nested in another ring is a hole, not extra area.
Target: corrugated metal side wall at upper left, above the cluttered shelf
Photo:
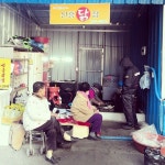
[[[13,35],[37,35],[37,26],[6,4],[0,4],[0,45],[8,43]]]

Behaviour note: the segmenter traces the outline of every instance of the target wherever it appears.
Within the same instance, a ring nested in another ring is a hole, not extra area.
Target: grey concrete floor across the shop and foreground
[[[121,123],[103,121],[103,136],[129,136],[134,130],[122,130]],[[20,151],[10,146],[0,146],[0,165],[48,165],[45,155],[37,152],[33,156],[26,155],[28,145]],[[62,157],[58,165],[143,165],[144,156],[138,152],[131,140],[77,140],[70,150],[58,148],[56,157]]]

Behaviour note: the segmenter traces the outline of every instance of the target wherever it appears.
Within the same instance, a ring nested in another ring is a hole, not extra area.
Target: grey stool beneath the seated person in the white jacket
[[[25,139],[29,140],[29,148],[26,148],[28,156],[34,155],[35,153],[33,142],[42,142],[42,146],[40,147],[40,154],[44,154],[46,135],[43,131],[26,131]]]

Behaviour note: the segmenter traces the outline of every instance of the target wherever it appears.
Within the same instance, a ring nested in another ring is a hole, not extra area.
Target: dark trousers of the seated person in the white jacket
[[[61,129],[59,122],[52,117],[46,123],[36,128],[35,131],[43,131],[46,134],[46,150],[55,151],[57,148],[57,143],[64,142],[63,131]]]

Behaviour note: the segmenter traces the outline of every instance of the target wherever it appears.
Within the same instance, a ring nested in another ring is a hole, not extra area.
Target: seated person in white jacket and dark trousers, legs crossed
[[[57,161],[53,157],[53,151],[59,147],[68,147],[63,138],[62,128],[56,120],[57,113],[50,111],[48,101],[45,98],[45,84],[36,81],[33,84],[33,95],[29,97],[23,113],[23,127],[26,131],[44,131],[46,134],[46,157],[52,164]],[[65,145],[66,144],[66,145]]]

